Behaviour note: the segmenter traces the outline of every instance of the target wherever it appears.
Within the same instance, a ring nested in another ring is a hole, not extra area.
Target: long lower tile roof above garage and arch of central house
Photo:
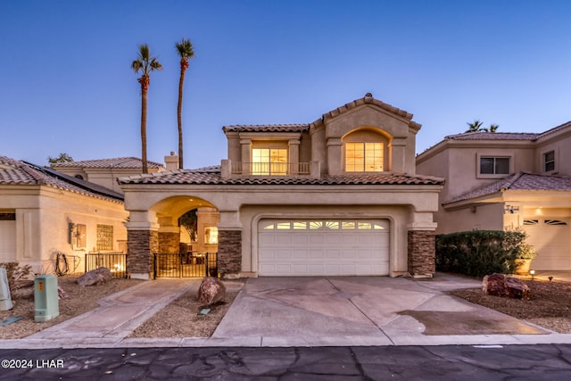
[[[203,170],[175,170],[148,175],[119,178],[120,184],[172,184],[172,185],[277,185],[277,186],[331,186],[331,185],[443,185],[443,178],[408,175],[402,173],[377,173],[367,175],[337,175],[322,178],[241,177],[222,178],[219,167]]]

